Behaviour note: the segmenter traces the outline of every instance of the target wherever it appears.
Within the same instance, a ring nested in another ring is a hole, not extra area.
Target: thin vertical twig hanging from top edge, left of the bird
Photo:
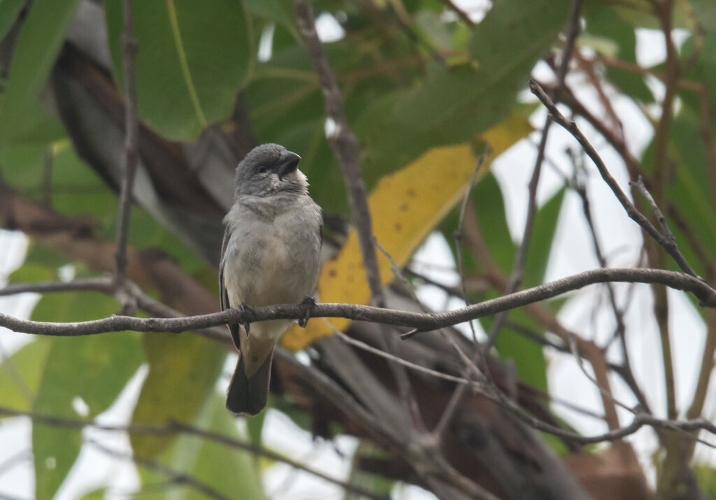
[[[125,81],[125,176],[120,191],[120,208],[117,220],[117,252],[115,254],[115,284],[124,282],[127,271],[127,233],[129,231],[132,187],[137,169],[137,87],[135,82],[135,56],[137,40],[132,32],[132,0],[122,1],[122,72]]]

